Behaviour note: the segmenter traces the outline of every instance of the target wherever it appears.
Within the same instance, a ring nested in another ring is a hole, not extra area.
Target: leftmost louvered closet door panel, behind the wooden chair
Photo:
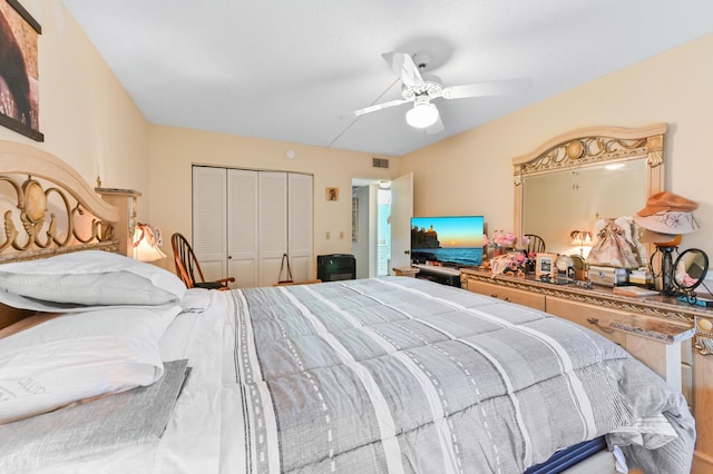
[[[193,251],[207,280],[223,278],[226,268],[225,168],[193,167]]]

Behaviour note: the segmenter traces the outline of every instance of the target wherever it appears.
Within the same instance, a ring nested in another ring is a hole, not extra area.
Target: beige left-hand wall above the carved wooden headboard
[[[146,190],[147,122],[64,3],[21,1],[41,24],[38,142],[0,127],[0,139],[33,145],[92,185]]]

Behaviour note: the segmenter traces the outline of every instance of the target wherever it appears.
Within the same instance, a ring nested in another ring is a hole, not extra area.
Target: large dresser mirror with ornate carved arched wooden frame
[[[574,241],[574,230],[633,216],[663,190],[665,131],[666,124],[579,129],[514,158],[516,234],[539,235],[547,253],[586,257],[592,244]]]

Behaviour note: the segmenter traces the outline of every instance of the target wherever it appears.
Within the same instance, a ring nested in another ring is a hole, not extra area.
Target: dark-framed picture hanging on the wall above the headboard
[[[0,125],[45,141],[40,132],[40,24],[17,0],[0,0]]]

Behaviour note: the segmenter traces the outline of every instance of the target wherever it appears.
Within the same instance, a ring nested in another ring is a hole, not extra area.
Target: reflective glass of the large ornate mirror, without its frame
[[[522,233],[543,237],[548,251],[583,253],[572,229],[594,231],[605,217],[633,216],[646,204],[646,159],[566,169],[522,178]],[[589,244],[590,245],[590,244]]]

